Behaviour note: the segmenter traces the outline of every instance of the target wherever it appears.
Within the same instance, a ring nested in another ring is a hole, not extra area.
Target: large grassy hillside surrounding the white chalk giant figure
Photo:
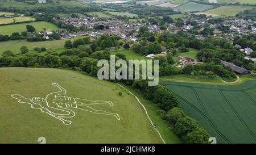
[[[0,73],[0,143],[38,143],[39,137],[45,137],[47,143],[162,143],[135,97],[115,83],[63,69],[1,68]],[[72,110],[76,115],[65,118],[71,122],[65,125],[53,117],[59,113],[54,111],[55,115],[49,115],[39,109],[52,112],[51,106],[42,104],[31,108],[31,100],[24,98],[46,97],[60,91],[53,82],[67,92],[64,94],[67,97],[111,101],[113,106],[91,104],[89,107],[118,114],[119,120],[113,115],[68,106],[65,110]],[[176,136],[170,141],[179,143]]]

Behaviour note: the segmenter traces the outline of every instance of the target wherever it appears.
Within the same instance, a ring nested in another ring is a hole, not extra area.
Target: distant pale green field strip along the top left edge
[[[14,0],[8,0],[8,1],[3,1],[0,0],[0,3],[3,7],[18,7],[18,8],[24,8],[24,7],[28,7],[28,8],[35,8],[35,7],[51,7],[51,6],[64,6],[64,7],[83,7],[83,6],[88,6],[84,3],[80,3],[80,2],[76,2],[76,1],[59,1],[60,3],[56,3],[56,0],[53,0],[53,2],[55,3],[54,5],[50,4],[50,3],[46,3],[46,4],[41,4],[41,3],[36,3],[35,5],[28,5],[27,3],[23,3],[23,2],[16,2]]]

